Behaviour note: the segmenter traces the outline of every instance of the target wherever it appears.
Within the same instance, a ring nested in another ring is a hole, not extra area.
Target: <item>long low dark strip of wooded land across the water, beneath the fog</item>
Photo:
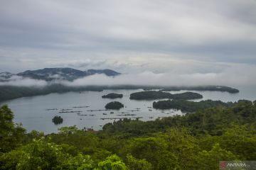
[[[65,86],[63,84],[48,84],[46,86],[0,86],[0,101],[11,100],[14,98],[37,96],[51,93],[65,93],[68,91],[103,91],[105,89],[161,89],[161,91],[226,91],[228,93],[238,93],[238,89],[228,86]]]

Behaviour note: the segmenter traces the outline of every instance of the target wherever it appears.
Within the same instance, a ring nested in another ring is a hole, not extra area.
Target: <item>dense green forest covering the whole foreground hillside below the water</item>
[[[256,101],[49,135],[26,132],[13,119],[1,106],[0,169],[211,170],[222,160],[256,160]]]

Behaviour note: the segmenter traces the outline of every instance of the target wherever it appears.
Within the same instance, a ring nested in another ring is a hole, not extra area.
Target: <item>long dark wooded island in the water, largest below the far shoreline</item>
[[[201,94],[193,93],[193,92],[184,92],[181,94],[170,94],[163,91],[139,91],[130,95],[130,99],[134,100],[154,100],[161,98],[173,98],[173,99],[198,99],[203,98]]]

